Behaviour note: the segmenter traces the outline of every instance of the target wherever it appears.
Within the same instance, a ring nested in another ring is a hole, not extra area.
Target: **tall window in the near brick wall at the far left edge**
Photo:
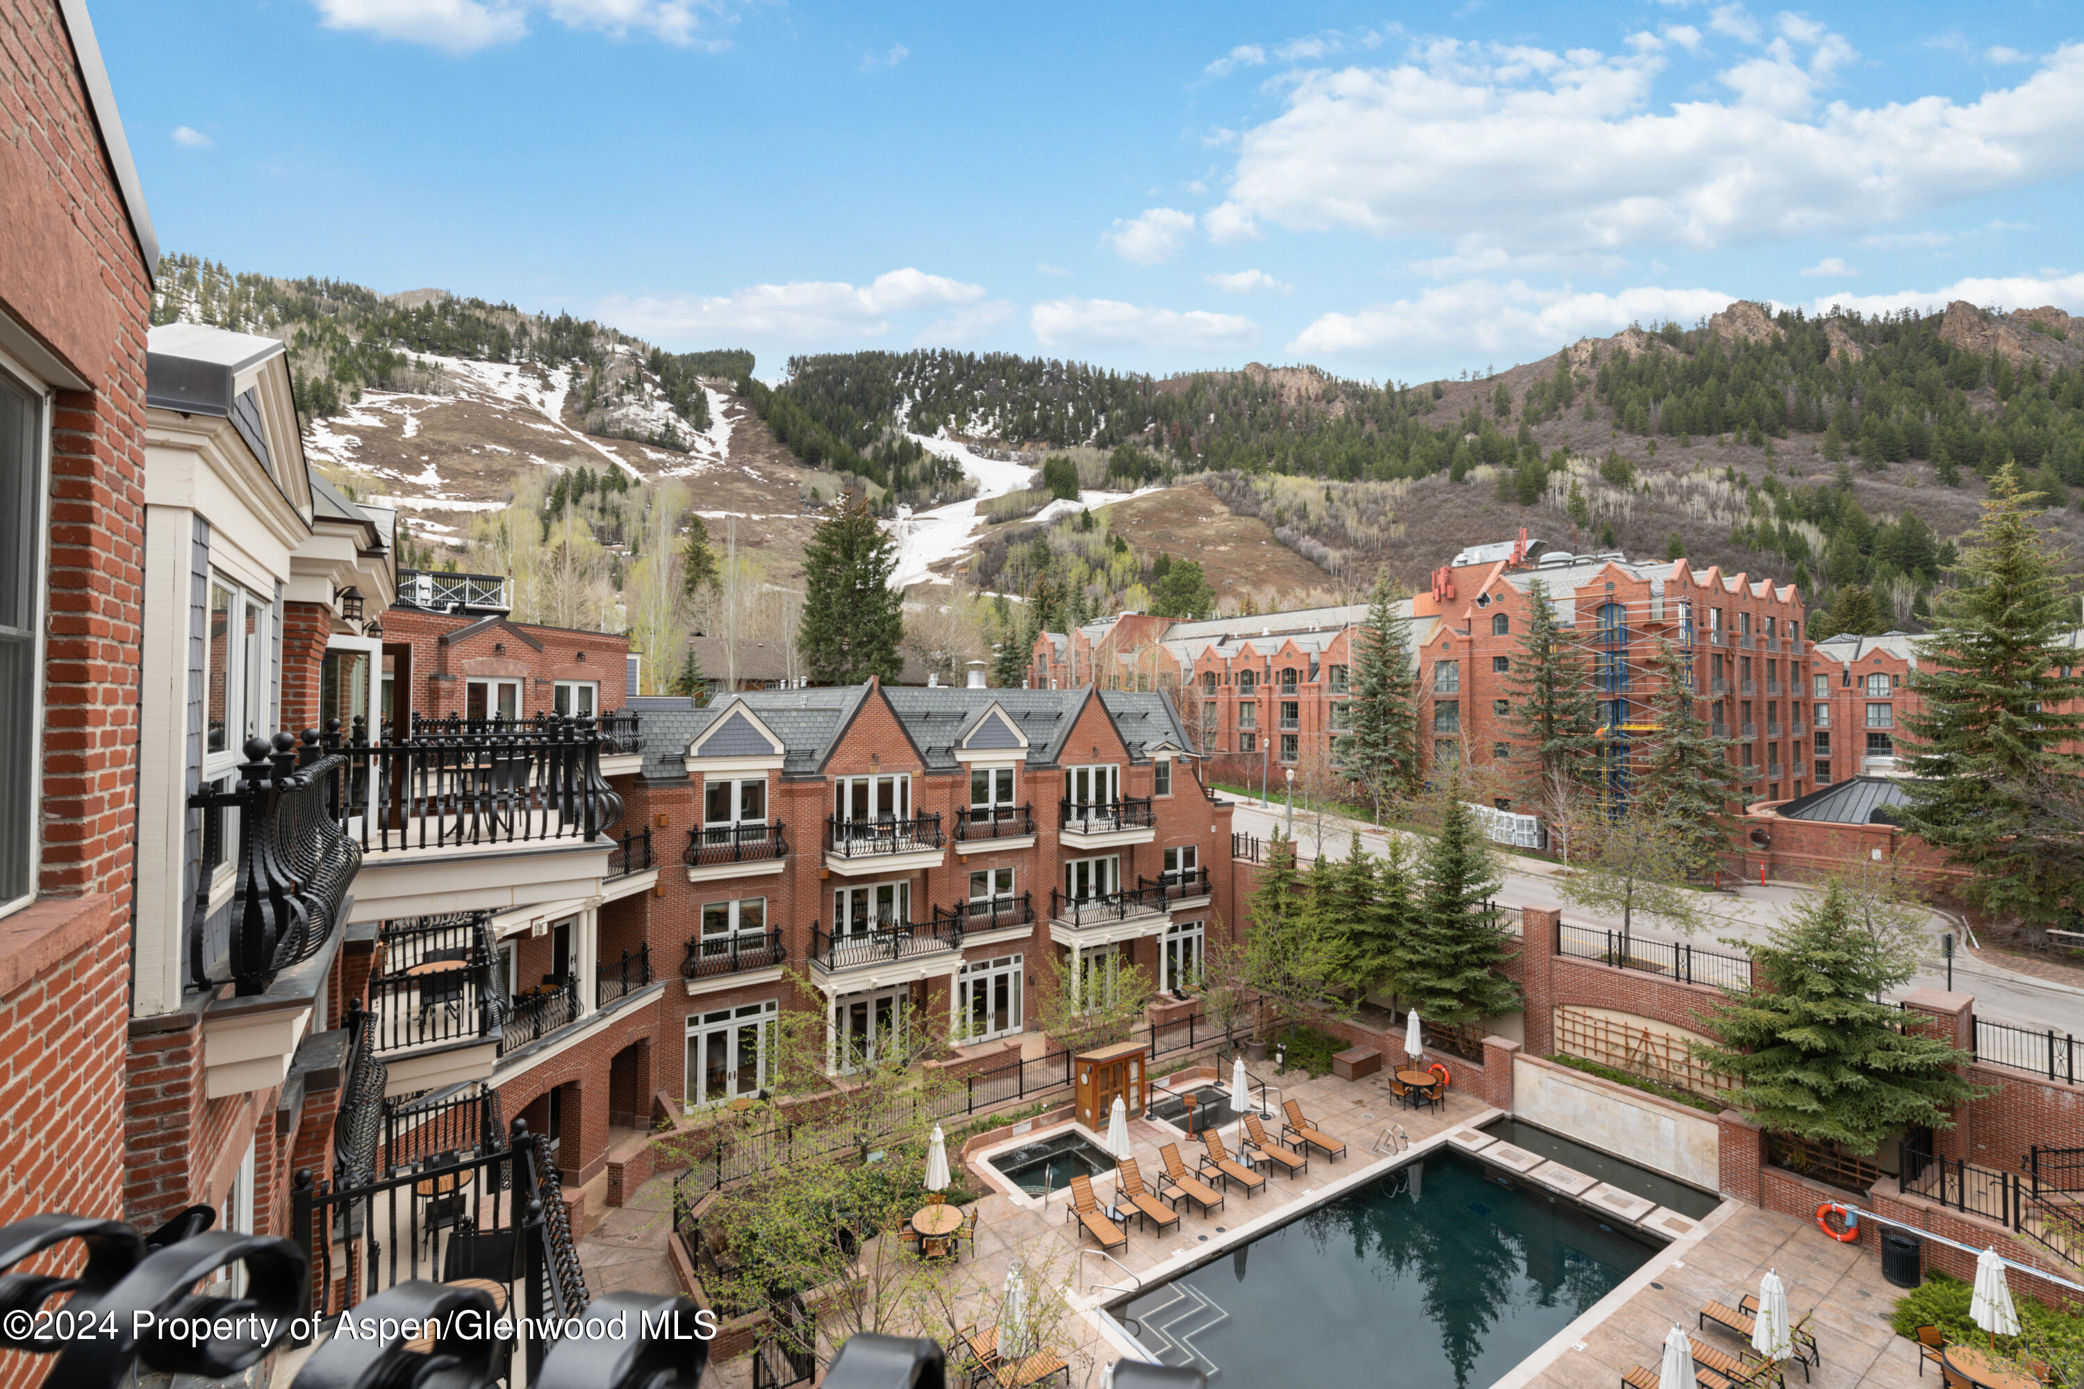
[[[46,394],[0,358],[0,912],[35,898],[44,723]]]

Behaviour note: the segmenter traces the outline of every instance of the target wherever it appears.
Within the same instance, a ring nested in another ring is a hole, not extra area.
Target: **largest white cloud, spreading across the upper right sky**
[[[2084,44],[1974,102],[1807,115],[1849,58],[1844,40],[1790,19],[1723,73],[1732,98],[1663,110],[1655,54],[1442,40],[1396,67],[1305,71],[1284,110],[1244,133],[1202,227],[1217,242],[1273,223],[1457,250],[1713,248],[1880,229],[2084,169]]]

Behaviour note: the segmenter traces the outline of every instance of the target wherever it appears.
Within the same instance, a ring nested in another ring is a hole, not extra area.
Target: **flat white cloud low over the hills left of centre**
[[[890,314],[961,304],[982,306],[984,285],[965,285],[915,269],[877,275],[867,285],[798,279],[750,285],[736,294],[681,298],[609,298],[598,306],[611,323],[646,337],[746,333],[767,339],[861,339],[890,333]],[[979,308],[982,312],[982,308]]]

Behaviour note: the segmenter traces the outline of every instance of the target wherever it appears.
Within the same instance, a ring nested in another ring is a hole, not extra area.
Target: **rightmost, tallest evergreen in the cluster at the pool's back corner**
[[[1428,1022],[1463,1027],[1519,1008],[1519,985],[1498,973],[1513,935],[1484,906],[1500,885],[1496,866],[1459,787],[1448,787],[1411,927],[1392,945],[1396,993]]]

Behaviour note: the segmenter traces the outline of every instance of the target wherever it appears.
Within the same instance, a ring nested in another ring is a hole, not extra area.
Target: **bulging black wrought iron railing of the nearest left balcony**
[[[215,873],[202,873],[188,923],[190,987],[231,983],[235,993],[265,993],[275,975],[319,954],[331,939],[363,850],[338,820],[346,760],[277,733],[246,743],[246,762],[229,791],[198,791],[204,810],[204,862],[231,860],[231,902],[210,912]],[[238,843],[225,845],[235,818]]]

